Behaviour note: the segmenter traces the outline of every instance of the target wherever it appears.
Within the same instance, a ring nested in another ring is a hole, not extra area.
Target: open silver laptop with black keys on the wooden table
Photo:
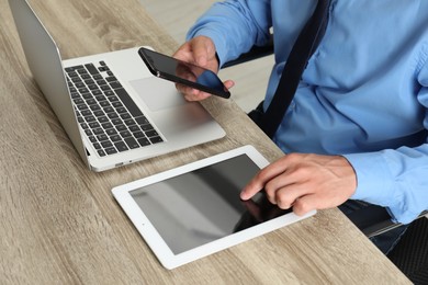
[[[139,47],[63,60],[27,1],[9,5],[31,72],[91,170],[225,136],[200,103],[187,102],[172,82],[149,72]]]

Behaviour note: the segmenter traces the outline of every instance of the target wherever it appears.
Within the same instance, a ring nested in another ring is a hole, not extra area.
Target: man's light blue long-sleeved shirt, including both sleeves
[[[188,38],[214,41],[221,62],[274,32],[275,65],[264,109],[314,0],[236,0],[212,7]],[[428,209],[428,1],[334,0],[273,140],[284,152],[343,155],[352,196],[407,224]]]

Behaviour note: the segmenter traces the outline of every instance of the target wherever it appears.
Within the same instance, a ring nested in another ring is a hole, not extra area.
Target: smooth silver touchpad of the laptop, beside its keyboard
[[[151,112],[183,105],[187,103],[174,83],[157,77],[129,81],[139,98]]]

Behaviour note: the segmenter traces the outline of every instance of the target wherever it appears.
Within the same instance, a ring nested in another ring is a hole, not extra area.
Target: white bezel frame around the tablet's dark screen
[[[121,205],[125,214],[134,224],[138,232],[143,236],[144,240],[149,246],[155,255],[158,258],[159,262],[166,269],[171,270],[185,263],[195,261],[212,253],[218,252],[221,250],[230,248],[233,246],[259,237],[267,232],[273,231],[283,226],[302,220],[316,213],[315,210],[313,210],[304,216],[296,216],[294,213],[288,213],[269,221],[261,223],[259,225],[228,235],[209,243],[199,246],[182,253],[174,254],[172,250],[168,247],[168,244],[165,242],[162,237],[155,229],[147,216],[144,214],[144,210],[140,209],[135,200],[131,196],[129,192],[241,155],[246,155],[260,169],[269,164],[269,161],[252,146],[244,146],[112,189],[113,196],[115,197],[117,203]]]

